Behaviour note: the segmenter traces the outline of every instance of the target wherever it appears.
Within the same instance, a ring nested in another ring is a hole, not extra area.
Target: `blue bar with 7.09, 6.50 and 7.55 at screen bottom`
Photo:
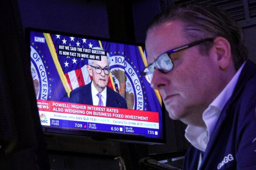
[[[107,132],[116,132],[116,133],[131,133],[131,134],[138,134],[138,135],[143,135],[147,137],[156,137],[159,135],[159,130],[157,129],[131,127],[131,126],[125,126],[125,125],[108,125],[108,124],[101,124],[101,123],[80,122],[80,121],[71,121],[71,120],[63,120],[63,119],[50,119],[50,126],[76,128],[76,129],[83,129],[83,130],[107,131]]]

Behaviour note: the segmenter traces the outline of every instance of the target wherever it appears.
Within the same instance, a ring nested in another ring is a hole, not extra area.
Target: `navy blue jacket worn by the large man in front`
[[[189,148],[184,170],[197,170],[200,152]],[[220,114],[200,166],[200,170],[235,169],[256,170],[256,65],[250,60]]]

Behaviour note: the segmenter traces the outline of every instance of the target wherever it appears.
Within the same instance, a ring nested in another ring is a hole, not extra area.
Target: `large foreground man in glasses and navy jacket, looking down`
[[[164,11],[145,41],[151,87],[188,126],[186,170],[256,170],[256,65],[238,24],[211,6]]]

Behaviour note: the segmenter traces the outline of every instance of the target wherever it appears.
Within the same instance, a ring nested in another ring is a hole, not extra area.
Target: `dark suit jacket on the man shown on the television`
[[[93,105],[91,84],[92,82],[71,91],[70,102],[85,105]],[[113,108],[127,108],[126,100],[120,94],[116,93],[108,86],[106,106]]]

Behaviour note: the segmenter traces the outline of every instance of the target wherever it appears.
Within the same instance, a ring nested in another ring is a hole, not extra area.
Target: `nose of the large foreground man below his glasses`
[[[160,88],[163,88],[166,86],[167,80],[166,75],[161,73],[157,68],[155,68],[152,80],[151,80],[151,88],[160,90]]]

